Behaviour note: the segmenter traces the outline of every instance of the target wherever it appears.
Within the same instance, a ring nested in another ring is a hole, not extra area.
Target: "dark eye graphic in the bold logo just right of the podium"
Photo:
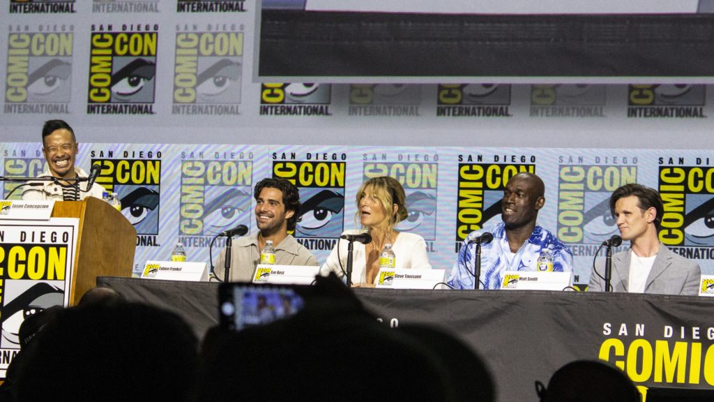
[[[149,187],[122,186],[121,213],[134,225],[137,233],[155,234],[158,231],[159,217],[156,207],[159,206],[159,192]],[[146,230],[153,229],[153,232]]]

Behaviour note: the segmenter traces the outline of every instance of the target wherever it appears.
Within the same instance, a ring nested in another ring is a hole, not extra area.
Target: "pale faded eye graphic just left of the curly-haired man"
[[[248,225],[250,214],[243,213],[251,207],[251,195],[231,187],[206,187],[203,205],[203,231],[217,235],[238,225]]]

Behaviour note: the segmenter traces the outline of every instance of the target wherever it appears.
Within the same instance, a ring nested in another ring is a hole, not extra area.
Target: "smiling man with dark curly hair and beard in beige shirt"
[[[295,230],[300,212],[300,192],[288,180],[265,178],[253,189],[256,199],[257,232],[241,237],[231,247],[230,282],[250,282],[261,258],[261,250],[271,240],[277,265],[318,265],[317,259],[288,234]],[[216,277],[224,279],[226,250],[221,250],[216,262]]]

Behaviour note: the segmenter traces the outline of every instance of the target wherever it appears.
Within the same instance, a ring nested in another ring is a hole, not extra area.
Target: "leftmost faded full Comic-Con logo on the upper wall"
[[[10,32],[6,113],[69,113],[74,25],[62,28]]]

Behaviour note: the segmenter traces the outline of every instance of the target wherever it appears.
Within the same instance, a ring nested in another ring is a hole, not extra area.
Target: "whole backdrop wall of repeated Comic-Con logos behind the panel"
[[[218,232],[254,230],[252,187],[267,176],[300,188],[295,235],[321,261],[356,226],[361,182],[396,177],[410,210],[399,228],[450,269],[528,171],[546,185],[540,225],[573,248],[575,283],[617,232],[607,200],[628,182],[662,192],[660,239],[714,273],[708,85],[261,83],[256,1],[0,4],[1,174],[38,175],[42,123],[68,121],[77,165],[101,165],[136,227],[135,272],[178,241],[208,261]]]

